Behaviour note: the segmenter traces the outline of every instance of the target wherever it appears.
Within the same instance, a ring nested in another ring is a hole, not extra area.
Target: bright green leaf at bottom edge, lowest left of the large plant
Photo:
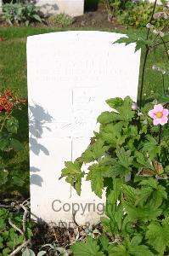
[[[86,242],[77,241],[70,248],[75,256],[104,256],[91,236],[87,236]]]

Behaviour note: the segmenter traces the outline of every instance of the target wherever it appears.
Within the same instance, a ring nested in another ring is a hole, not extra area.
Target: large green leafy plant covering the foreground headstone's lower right
[[[95,240],[88,236],[86,242],[78,241],[71,249],[78,256],[169,253],[168,125],[161,136],[148,114],[152,103],[132,110],[129,96],[106,102],[112,111],[99,115],[99,132],[82,156],[74,163],[66,162],[62,171],[78,195],[82,177],[91,182],[99,197],[106,190],[105,216],[101,219],[104,234]],[[84,173],[86,164],[88,172]],[[120,242],[111,244],[105,234],[118,236]]]

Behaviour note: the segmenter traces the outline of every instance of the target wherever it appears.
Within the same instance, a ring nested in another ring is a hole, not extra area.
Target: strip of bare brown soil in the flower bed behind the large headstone
[[[8,27],[9,25],[4,22],[2,19],[0,19],[0,27]],[[17,26],[17,25],[15,25]],[[22,26],[22,25],[20,25]],[[25,25],[23,25],[25,26]],[[63,27],[62,25],[53,25],[50,24],[48,20],[45,20],[43,23],[39,22],[32,22],[30,26],[34,27]],[[80,28],[80,27],[87,27],[87,28],[94,28],[94,29],[123,29],[124,26],[121,26],[117,22],[117,20],[114,17],[109,17],[107,14],[107,11],[104,8],[104,5],[100,5],[99,8],[96,11],[87,11],[82,16],[77,16],[74,18],[73,24],[70,26],[66,26],[70,28]]]

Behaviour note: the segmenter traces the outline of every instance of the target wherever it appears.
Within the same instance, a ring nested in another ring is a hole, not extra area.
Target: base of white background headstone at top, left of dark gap
[[[36,0],[44,15],[65,13],[70,16],[83,15],[84,0]]]

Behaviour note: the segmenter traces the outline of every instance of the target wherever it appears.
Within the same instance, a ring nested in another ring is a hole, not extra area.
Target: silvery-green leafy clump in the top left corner
[[[33,3],[5,3],[3,19],[11,26],[20,23],[25,23],[28,26],[31,21],[42,22],[39,9]]]

